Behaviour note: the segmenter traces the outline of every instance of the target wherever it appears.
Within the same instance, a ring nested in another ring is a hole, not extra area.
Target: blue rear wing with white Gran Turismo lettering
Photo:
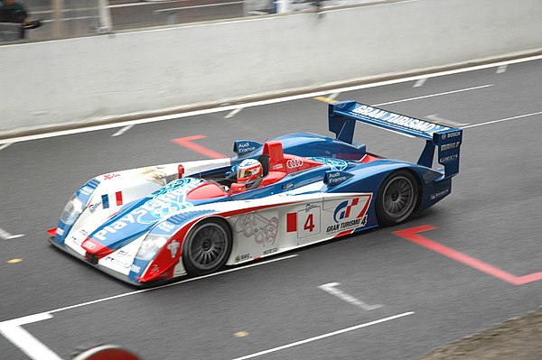
[[[433,166],[436,146],[438,147],[438,162],[444,165],[444,178],[451,178],[459,172],[459,149],[463,140],[462,129],[392,113],[355,101],[330,104],[328,115],[330,131],[337,135],[337,140],[352,143],[356,121],[360,121],[425,139],[425,148],[417,162],[418,165],[427,168]]]

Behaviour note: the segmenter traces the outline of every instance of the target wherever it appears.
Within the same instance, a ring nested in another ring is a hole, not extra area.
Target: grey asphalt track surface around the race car
[[[229,154],[238,138],[329,134],[325,103],[309,97],[123,134],[117,128],[0,144],[0,357],[28,359],[18,342],[62,359],[79,346],[111,343],[148,360],[411,359],[537,309],[541,69],[534,60],[332,95],[463,124],[452,195],[400,226],[150,291],[46,241],[45,230],[79,184],[110,171],[207,158],[176,138],[201,135],[192,143]],[[366,125],[358,125],[356,140],[412,161],[423,147]],[[413,235],[413,227],[427,231]],[[322,289],[330,283],[338,284]]]

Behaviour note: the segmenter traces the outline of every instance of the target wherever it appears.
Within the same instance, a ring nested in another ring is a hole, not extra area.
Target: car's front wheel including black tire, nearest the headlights
[[[231,231],[225,221],[216,218],[201,221],[184,239],[184,269],[197,276],[216,272],[228,260],[231,243]]]

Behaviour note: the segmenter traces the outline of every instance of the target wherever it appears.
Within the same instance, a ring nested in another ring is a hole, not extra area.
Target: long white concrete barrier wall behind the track
[[[542,48],[540,0],[417,0],[0,46],[0,133]]]

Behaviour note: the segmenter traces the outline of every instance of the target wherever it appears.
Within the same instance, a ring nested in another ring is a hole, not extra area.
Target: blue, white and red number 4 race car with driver
[[[354,101],[328,113],[335,138],[238,140],[231,158],[89,180],[49,230],[50,242],[124,282],[154,285],[393,226],[451,193],[461,129]],[[357,122],[425,139],[419,160],[367,152],[353,143]]]

